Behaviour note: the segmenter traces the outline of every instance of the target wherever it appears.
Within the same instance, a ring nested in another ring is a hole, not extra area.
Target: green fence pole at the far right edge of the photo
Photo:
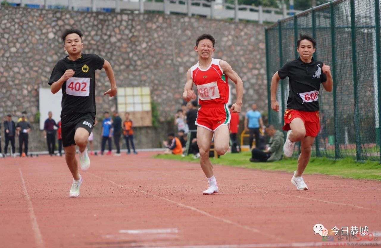
[[[378,88],[378,123],[381,123],[381,34],[380,34],[380,9],[379,0],[375,0],[376,22],[376,54],[377,54],[377,88]],[[378,126],[378,146],[380,147],[381,162],[381,132]]]

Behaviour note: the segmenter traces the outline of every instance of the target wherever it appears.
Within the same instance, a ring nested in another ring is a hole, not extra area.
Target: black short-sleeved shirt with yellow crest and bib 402
[[[83,54],[76,61],[61,59],[54,66],[49,85],[57,82],[68,69],[75,74],[62,84],[61,115],[96,112],[95,70],[102,69],[104,58],[96,54]]]

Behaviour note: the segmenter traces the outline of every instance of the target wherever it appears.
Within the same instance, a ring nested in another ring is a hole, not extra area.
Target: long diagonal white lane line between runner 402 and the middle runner
[[[120,185],[120,184],[117,184],[117,183],[114,182],[114,181],[111,181],[111,180],[106,179],[106,178],[102,178],[102,177],[97,176],[97,175],[95,175],[95,174],[93,174],[93,173],[88,173],[88,174],[90,174],[90,175],[92,175],[92,176],[95,176],[96,178],[104,179],[104,180],[106,180],[106,181],[109,181],[109,182],[111,182],[112,184],[115,184],[115,185],[118,186],[118,187],[126,188],[126,189],[130,189],[130,190],[134,190],[134,191],[136,191],[136,192],[141,192],[141,193],[146,194],[146,195],[151,195],[151,196],[156,197],[156,198],[158,198],[158,199],[161,199],[161,200],[165,200],[165,201],[167,201],[167,202],[174,203],[174,204],[179,205],[179,206],[181,206],[181,207],[183,207],[183,208],[188,208],[188,209],[193,210],[193,211],[195,211],[195,212],[197,212],[197,213],[203,214],[203,215],[208,216],[208,217],[213,218],[213,219],[217,219],[217,220],[222,221],[222,222],[225,222],[225,223],[227,223],[227,224],[231,224],[231,225],[233,225],[233,226],[237,226],[237,227],[240,227],[240,228],[242,228],[242,229],[246,229],[246,230],[249,230],[249,231],[251,231],[251,232],[258,233],[258,234],[260,233],[260,234],[263,235],[263,236],[268,236],[268,237],[271,237],[271,238],[279,239],[279,237],[276,237],[276,236],[274,236],[274,235],[267,234],[267,233],[263,233],[263,232],[261,232],[261,231],[258,230],[258,229],[251,228],[251,227],[249,227],[249,226],[244,226],[244,225],[241,225],[241,224],[239,224],[239,223],[236,223],[236,222],[233,222],[233,221],[229,221],[228,219],[224,219],[224,218],[221,218],[221,217],[212,215],[212,214],[207,213],[207,212],[205,212],[205,211],[199,210],[198,208],[195,208],[195,207],[192,207],[192,206],[188,206],[188,205],[185,205],[185,204],[182,204],[182,203],[179,203],[179,202],[175,202],[175,201],[173,201],[173,200],[170,200],[170,199],[167,199],[167,198],[158,196],[158,195],[154,195],[154,194],[148,193],[148,192],[143,191],[143,190],[134,189],[134,188],[131,188],[131,187],[128,187],[128,186],[122,186],[122,185]]]

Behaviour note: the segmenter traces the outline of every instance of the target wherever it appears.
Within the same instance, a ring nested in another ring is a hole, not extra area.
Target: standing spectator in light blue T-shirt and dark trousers
[[[255,146],[259,145],[259,128],[263,126],[263,120],[261,112],[257,110],[257,105],[253,103],[251,110],[246,113],[245,116],[245,131],[249,132],[249,147],[253,146],[253,139],[255,135]]]

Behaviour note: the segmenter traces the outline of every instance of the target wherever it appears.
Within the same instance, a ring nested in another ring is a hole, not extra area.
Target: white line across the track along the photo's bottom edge
[[[149,246],[149,248],[262,248],[262,247],[307,247],[323,246],[322,242],[309,243],[266,243],[266,244],[247,244],[247,245],[187,245],[187,246]],[[147,246],[146,246],[147,247]]]

